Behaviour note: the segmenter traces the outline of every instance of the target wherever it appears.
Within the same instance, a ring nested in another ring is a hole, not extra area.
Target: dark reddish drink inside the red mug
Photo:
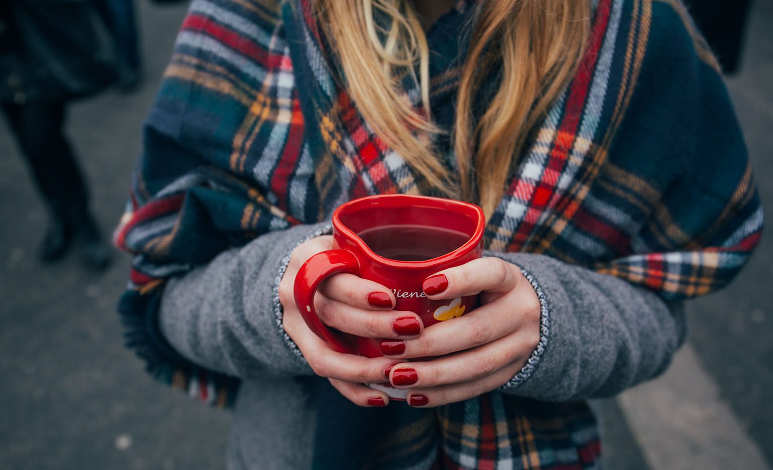
[[[397,261],[426,261],[464,245],[470,235],[425,225],[381,225],[359,232],[376,255]]]

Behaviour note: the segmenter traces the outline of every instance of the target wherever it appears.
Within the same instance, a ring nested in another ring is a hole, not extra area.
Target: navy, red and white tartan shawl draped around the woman
[[[427,38],[441,128],[453,122],[465,56],[455,31],[473,10],[458,2]],[[118,306],[128,346],[155,378],[218,406],[233,401],[239,379],[165,343],[153,320],[164,280],[258,235],[321,221],[352,198],[427,193],[342,89],[310,12],[307,0],[192,2],[115,236],[133,255]],[[453,167],[447,137],[428,144]],[[760,238],[741,132],[679,0],[595,0],[574,79],[513,162],[487,249],[549,255],[677,301],[725,286]],[[407,426],[431,433],[396,430],[374,465],[598,466],[598,434],[581,403],[491,393]]]

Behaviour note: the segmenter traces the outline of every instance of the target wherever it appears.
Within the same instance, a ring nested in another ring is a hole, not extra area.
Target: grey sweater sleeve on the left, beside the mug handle
[[[282,328],[278,284],[295,246],[329,223],[261,235],[165,286],[160,326],[183,357],[236,377],[312,375]]]

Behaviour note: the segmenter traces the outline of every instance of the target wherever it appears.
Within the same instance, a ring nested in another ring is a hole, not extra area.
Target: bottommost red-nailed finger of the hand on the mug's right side
[[[407,402],[412,407],[438,407],[444,404],[456,403],[478,397],[495,388],[502,387],[515,374],[516,367],[506,367],[495,374],[482,379],[471,380],[462,384],[444,385],[432,388],[416,388],[408,394]]]

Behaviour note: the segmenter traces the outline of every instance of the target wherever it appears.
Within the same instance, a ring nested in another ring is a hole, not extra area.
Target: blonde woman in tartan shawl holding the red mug
[[[393,192],[484,208],[488,256],[424,284],[483,305],[424,329],[337,275],[322,320],[386,356],[335,353],[295,272],[336,207]],[[683,300],[761,221],[678,2],[197,1],[117,232],[119,309],[151,374],[235,404],[230,468],[591,468],[583,400],[666,368]],[[384,377],[407,404],[361,385]]]

